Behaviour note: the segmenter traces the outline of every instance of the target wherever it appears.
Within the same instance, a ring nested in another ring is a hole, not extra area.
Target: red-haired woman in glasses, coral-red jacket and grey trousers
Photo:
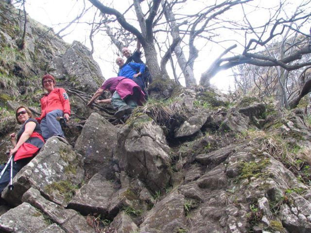
[[[42,77],[42,86],[47,91],[41,99],[41,131],[45,140],[52,136],[65,137],[62,127],[57,121],[57,116],[63,116],[69,121],[70,104],[66,91],[63,88],[55,88],[55,79],[46,74]]]

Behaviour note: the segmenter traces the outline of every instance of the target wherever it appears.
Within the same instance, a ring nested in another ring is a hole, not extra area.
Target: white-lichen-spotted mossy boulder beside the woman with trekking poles
[[[72,147],[51,137],[35,158],[14,177],[14,191],[6,187],[2,198],[21,203],[22,195],[35,187],[55,203],[67,206],[77,185],[84,179],[83,158]]]

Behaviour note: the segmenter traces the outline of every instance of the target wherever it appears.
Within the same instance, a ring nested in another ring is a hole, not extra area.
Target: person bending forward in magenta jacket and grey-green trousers
[[[118,118],[124,114],[131,114],[137,105],[142,105],[145,101],[145,95],[137,83],[125,77],[114,77],[107,79],[98,88],[87,106],[92,105],[94,100],[104,93],[104,90],[109,90],[112,97],[106,100],[97,100],[96,102],[111,103],[114,108],[118,109],[115,113]]]

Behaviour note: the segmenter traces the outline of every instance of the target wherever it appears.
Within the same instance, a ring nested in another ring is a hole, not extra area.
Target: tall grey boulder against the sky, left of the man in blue
[[[78,41],[73,41],[63,55],[63,64],[69,74],[69,81],[76,89],[94,92],[104,82],[101,69],[91,52]]]

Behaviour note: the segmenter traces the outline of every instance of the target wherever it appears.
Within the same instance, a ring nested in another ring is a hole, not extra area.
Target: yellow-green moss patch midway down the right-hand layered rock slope
[[[266,168],[270,164],[269,159],[261,159],[260,161],[252,161],[252,162],[240,162],[239,168],[241,175],[238,179],[250,179],[252,177],[258,178],[265,176],[265,173],[262,173],[262,170]]]

